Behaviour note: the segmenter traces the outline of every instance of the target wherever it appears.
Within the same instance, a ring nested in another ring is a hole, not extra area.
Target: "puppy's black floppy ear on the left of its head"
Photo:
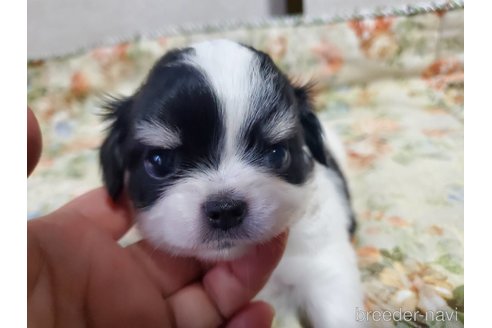
[[[126,168],[125,140],[129,130],[132,98],[117,99],[106,104],[105,119],[112,123],[99,153],[103,181],[109,194],[116,200],[123,191]]]

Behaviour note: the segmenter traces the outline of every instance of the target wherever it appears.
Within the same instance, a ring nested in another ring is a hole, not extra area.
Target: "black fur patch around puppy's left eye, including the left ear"
[[[216,168],[224,134],[216,96],[203,74],[180,62],[193,50],[173,51],[155,64],[145,83],[131,98],[111,106],[115,119],[101,149],[106,186],[116,198],[123,188],[123,172],[131,172],[128,190],[134,204],[143,208],[161,197],[166,186],[197,167]],[[147,174],[145,156],[153,149],[136,141],[139,122],[157,121],[180,132],[181,146],[173,174],[154,178]]]

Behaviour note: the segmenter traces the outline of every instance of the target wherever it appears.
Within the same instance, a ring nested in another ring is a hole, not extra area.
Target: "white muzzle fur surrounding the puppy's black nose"
[[[285,230],[298,215],[302,189],[230,161],[216,171],[204,170],[168,188],[155,205],[139,213],[138,224],[147,239],[176,255],[230,259]],[[249,204],[243,228],[253,237],[234,239],[230,241],[234,246],[217,249],[215,243],[202,240],[206,220],[200,206],[208,196],[224,191],[239,193]]]

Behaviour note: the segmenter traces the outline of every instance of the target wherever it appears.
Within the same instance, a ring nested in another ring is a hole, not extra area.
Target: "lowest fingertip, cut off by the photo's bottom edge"
[[[227,328],[270,328],[275,311],[265,302],[252,302],[241,309],[227,324]]]

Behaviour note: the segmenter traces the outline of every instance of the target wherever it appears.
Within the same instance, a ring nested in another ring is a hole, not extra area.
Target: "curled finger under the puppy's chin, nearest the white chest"
[[[287,240],[287,233],[258,245],[246,256],[221,263],[203,279],[207,293],[223,317],[230,317],[247,304],[265,285],[277,266]]]

